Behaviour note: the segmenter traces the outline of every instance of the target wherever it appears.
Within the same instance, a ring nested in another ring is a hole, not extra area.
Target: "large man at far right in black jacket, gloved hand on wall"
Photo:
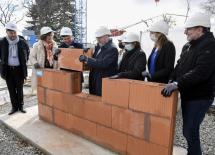
[[[199,127],[214,100],[215,39],[210,27],[206,14],[196,13],[188,18],[185,24],[188,43],[182,49],[170,83],[162,90],[164,96],[175,90],[181,93],[188,155],[202,155]]]

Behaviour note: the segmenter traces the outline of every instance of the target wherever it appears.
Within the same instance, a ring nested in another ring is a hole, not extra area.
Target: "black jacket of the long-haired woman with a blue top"
[[[168,41],[157,52],[158,53],[155,59],[155,73],[151,77],[151,79],[148,79],[148,81],[158,82],[158,83],[168,83],[170,75],[174,69],[175,46],[172,42]],[[152,56],[152,53],[148,58],[148,68],[151,63],[150,61],[151,56]]]

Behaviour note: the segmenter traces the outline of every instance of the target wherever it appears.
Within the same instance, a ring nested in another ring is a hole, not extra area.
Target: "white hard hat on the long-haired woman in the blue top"
[[[169,33],[169,25],[163,21],[160,20],[158,22],[156,22],[155,24],[153,24],[150,28],[149,28],[150,32],[160,32],[164,35],[168,35]]]

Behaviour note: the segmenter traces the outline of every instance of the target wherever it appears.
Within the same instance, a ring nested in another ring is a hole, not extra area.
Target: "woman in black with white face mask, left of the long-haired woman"
[[[122,42],[126,52],[120,63],[118,74],[111,78],[143,80],[141,73],[146,70],[146,55],[141,50],[139,35],[127,33]]]

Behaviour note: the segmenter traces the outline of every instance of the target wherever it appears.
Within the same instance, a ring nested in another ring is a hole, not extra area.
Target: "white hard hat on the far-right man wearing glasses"
[[[210,28],[211,22],[210,22],[210,16],[204,13],[195,13],[193,16],[189,17],[187,19],[187,22],[185,23],[185,28],[190,27],[196,27],[196,26],[203,26]]]

